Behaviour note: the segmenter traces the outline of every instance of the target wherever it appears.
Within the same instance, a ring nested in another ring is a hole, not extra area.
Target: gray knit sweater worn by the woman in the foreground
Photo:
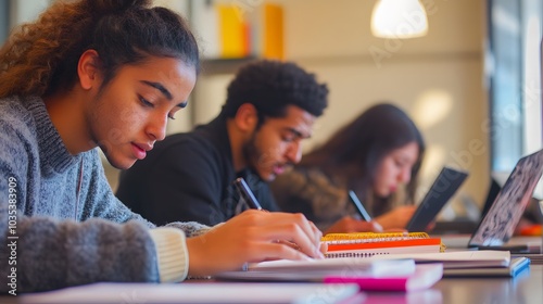
[[[189,237],[207,230],[172,226]],[[114,197],[96,149],[68,153],[41,99],[0,100],[1,293],[160,281],[162,244],[150,228]]]

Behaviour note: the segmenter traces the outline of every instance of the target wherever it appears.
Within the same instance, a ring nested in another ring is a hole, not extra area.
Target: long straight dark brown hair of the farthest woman
[[[391,198],[377,198],[371,183],[377,166],[391,151],[416,142],[418,159],[412,168],[406,187],[407,201],[413,202],[417,175],[425,153],[425,141],[415,123],[400,107],[379,103],[345,125],[323,145],[303,155],[300,167],[319,167],[325,174],[340,178],[371,205],[371,213],[380,215],[391,207]]]

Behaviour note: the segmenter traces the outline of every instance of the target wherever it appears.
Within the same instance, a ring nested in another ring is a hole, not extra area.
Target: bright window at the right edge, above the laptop
[[[542,149],[540,0],[489,0],[492,172]]]

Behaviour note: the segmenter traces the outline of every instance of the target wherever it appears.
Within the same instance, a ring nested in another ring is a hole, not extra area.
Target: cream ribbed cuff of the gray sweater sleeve
[[[149,230],[154,241],[161,282],[179,282],[189,273],[189,253],[185,233],[176,228]]]

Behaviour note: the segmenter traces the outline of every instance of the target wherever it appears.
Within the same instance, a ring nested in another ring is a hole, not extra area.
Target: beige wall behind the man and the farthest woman
[[[427,3],[429,34],[408,40],[371,36],[375,1],[275,2],[285,8],[287,60],[316,73],[330,89],[330,105],[305,148],[323,142],[374,102],[392,101],[414,117],[428,145],[420,192],[442,165],[451,165],[470,172],[456,202],[468,195],[482,203],[490,149],[484,128],[483,1],[421,1]],[[220,87],[230,77],[200,77],[197,96],[204,90],[205,98],[193,103],[197,123],[216,115],[225,100]]]

